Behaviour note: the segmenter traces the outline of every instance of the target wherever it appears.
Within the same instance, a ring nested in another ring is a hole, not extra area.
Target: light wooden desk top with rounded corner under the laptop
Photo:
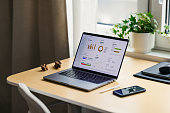
[[[71,67],[72,61],[71,58],[62,60],[62,68],[58,70],[53,68],[54,64],[49,64],[48,71],[40,71],[39,67],[9,76],[7,81],[11,85],[22,82],[33,92],[100,112],[170,113],[170,86],[168,84],[133,77],[134,73],[157,62],[125,57],[118,80],[91,92],[43,80],[43,76]],[[121,88],[139,85],[146,88],[146,92],[124,98],[113,95],[113,90],[103,94],[99,93],[99,91],[116,84],[120,84]]]

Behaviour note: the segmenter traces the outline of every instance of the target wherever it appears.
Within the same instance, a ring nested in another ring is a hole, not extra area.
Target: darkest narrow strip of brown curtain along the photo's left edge
[[[11,112],[11,87],[6,82],[11,74],[11,6],[10,0],[0,0],[0,112],[3,113]]]

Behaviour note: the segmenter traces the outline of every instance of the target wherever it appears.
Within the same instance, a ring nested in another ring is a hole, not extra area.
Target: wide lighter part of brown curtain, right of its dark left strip
[[[13,73],[69,57],[65,1],[13,1],[12,39]]]

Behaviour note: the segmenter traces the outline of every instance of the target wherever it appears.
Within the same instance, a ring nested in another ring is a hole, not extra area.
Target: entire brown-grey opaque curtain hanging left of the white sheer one
[[[17,106],[7,76],[68,57],[65,0],[0,0],[1,112]]]

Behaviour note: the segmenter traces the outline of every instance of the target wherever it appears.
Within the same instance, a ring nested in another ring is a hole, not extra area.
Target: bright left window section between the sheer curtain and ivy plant
[[[114,36],[113,24],[121,23],[130,14],[147,11],[148,0],[98,0],[96,32]]]

